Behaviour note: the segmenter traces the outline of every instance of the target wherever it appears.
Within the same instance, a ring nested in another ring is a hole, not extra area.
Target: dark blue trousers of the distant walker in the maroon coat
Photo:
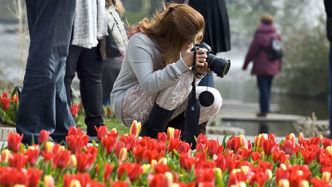
[[[261,112],[268,112],[270,105],[270,93],[273,76],[257,76],[257,84],[259,88],[259,103]]]

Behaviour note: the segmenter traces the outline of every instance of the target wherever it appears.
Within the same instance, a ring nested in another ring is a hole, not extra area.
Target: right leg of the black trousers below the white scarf
[[[84,49],[77,63],[76,72],[80,80],[80,93],[85,110],[87,135],[97,136],[94,126],[101,126],[103,119],[103,60],[100,46]]]

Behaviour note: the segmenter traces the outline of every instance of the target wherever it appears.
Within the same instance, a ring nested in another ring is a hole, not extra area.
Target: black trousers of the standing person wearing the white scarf
[[[80,80],[80,93],[85,110],[85,124],[87,135],[97,136],[97,128],[104,122],[103,119],[103,61],[100,55],[100,46],[91,49],[70,45],[66,60],[66,75],[64,84],[67,92],[67,101],[70,104],[70,85],[77,72]]]

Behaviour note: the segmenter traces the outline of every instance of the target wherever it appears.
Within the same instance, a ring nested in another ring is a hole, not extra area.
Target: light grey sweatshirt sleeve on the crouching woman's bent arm
[[[140,37],[133,36],[127,46],[126,56],[143,91],[152,95],[173,83],[189,69],[182,59],[167,65],[164,69],[153,71],[153,46],[146,44]]]

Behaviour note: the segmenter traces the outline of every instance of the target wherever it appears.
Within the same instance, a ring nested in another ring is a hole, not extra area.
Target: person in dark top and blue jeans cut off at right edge
[[[332,1],[331,0],[324,0],[325,5],[325,12],[326,12],[326,31],[327,31],[327,39],[331,42],[332,41]],[[332,138],[331,132],[332,132],[332,43],[330,44],[330,52],[329,52],[329,129],[330,132],[327,133],[327,136],[329,138]]]

